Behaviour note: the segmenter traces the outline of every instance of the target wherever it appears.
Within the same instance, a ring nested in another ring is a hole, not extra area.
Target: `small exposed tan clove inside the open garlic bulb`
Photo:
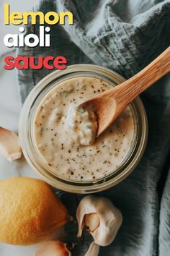
[[[99,226],[99,217],[97,213],[89,213],[84,216],[84,223],[89,228],[89,232],[93,232]]]

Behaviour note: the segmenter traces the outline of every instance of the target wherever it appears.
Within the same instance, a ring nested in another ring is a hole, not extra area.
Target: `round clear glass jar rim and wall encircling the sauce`
[[[130,104],[133,119],[135,120],[134,140],[125,161],[115,171],[103,178],[88,182],[63,179],[59,174],[55,174],[48,164],[45,165],[42,158],[40,158],[40,153],[35,146],[33,127],[37,107],[45,95],[56,85],[74,77],[95,77],[109,82],[112,86],[119,85],[125,81],[125,78],[120,76],[120,74],[91,64],[76,64],[62,71],[52,72],[35,86],[24,102],[19,120],[19,142],[27,162],[48,184],[73,193],[99,192],[121,182],[139,163],[146,148],[148,137],[146,111],[140,98],[135,98],[133,103]]]

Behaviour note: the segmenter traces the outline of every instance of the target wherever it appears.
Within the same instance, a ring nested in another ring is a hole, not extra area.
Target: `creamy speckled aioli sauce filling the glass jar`
[[[35,145],[56,174],[75,181],[99,179],[121,166],[130,153],[135,137],[130,107],[97,140],[94,112],[77,108],[110,88],[97,78],[76,77],[56,85],[42,99],[35,114]]]

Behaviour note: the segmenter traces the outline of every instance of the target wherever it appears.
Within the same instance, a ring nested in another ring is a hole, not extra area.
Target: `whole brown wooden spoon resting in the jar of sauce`
[[[112,124],[134,98],[168,72],[170,72],[170,47],[129,80],[81,103],[80,106],[84,108],[90,106],[95,109],[98,118],[97,137]]]

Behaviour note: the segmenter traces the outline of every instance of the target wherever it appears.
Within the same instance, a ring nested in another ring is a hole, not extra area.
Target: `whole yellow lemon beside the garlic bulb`
[[[67,210],[39,179],[13,177],[0,182],[0,241],[35,244],[66,223]]]

